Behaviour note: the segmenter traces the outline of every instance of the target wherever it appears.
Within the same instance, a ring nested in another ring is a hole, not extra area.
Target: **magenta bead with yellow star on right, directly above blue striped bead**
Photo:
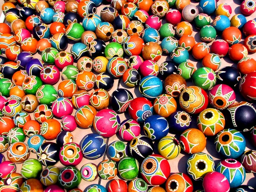
[[[146,60],[140,65],[140,74],[145,76],[157,76],[159,72],[159,67],[156,61]]]

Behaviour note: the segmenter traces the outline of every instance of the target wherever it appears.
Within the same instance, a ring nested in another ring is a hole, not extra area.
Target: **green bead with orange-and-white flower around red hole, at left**
[[[28,83],[26,83],[25,81],[28,81]],[[22,84],[23,91],[26,94],[32,94],[32,95],[35,95],[38,88],[43,85],[43,81],[38,76],[26,77],[26,79],[24,79],[24,82]]]

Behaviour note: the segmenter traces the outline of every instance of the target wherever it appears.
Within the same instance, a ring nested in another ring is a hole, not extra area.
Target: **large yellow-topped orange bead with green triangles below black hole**
[[[214,136],[224,129],[225,118],[217,109],[208,108],[198,115],[197,125],[204,135]]]

